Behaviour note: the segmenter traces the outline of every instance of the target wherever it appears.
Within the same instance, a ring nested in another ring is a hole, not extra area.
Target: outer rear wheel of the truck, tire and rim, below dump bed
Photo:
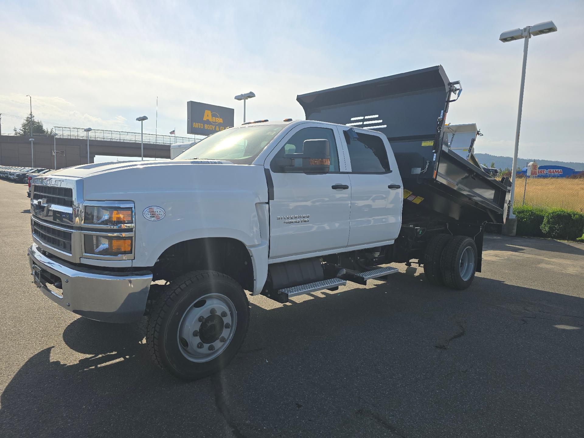
[[[442,253],[442,276],[446,286],[464,290],[471,285],[477,269],[477,245],[466,236],[454,237]]]

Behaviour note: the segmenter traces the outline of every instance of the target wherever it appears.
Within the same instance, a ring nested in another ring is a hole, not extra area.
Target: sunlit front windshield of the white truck
[[[245,126],[220,131],[192,145],[174,159],[223,159],[234,164],[252,164],[286,126]]]

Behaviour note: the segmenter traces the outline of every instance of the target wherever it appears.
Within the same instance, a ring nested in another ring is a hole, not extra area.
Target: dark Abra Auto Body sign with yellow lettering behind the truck
[[[234,109],[208,103],[186,103],[187,133],[210,135],[223,131],[234,124]]]

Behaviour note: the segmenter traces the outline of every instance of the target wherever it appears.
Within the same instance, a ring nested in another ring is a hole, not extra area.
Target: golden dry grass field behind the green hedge
[[[523,204],[525,179],[515,184],[515,205]],[[584,213],[584,179],[528,178],[525,203],[536,207],[556,207]]]

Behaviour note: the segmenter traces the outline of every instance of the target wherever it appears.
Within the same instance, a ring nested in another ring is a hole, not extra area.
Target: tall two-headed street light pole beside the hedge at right
[[[512,29],[503,32],[499,40],[503,43],[509,43],[510,41],[524,39],[523,41],[523,65],[521,71],[521,85],[519,89],[519,109],[517,109],[517,127],[515,130],[515,150],[513,151],[513,168],[511,169],[511,196],[509,199],[509,218],[515,219],[515,214],[513,214],[513,201],[515,200],[515,180],[517,173],[517,156],[519,155],[519,131],[521,128],[521,114],[523,109],[523,90],[525,88],[525,72],[527,68],[527,47],[529,47],[529,39],[532,36],[543,35],[546,33],[556,32],[558,28],[554,25],[554,22],[547,21],[544,23],[537,23],[537,25],[526,26],[523,29]]]

